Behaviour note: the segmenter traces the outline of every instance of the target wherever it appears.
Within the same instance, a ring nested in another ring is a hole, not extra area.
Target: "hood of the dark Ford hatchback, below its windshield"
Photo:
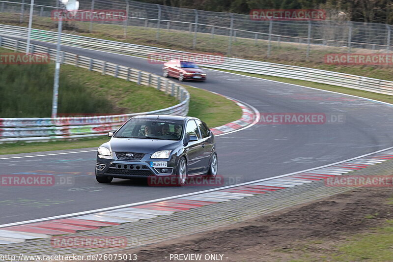
[[[113,137],[108,144],[112,152],[153,154],[160,150],[173,150],[180,141]]]

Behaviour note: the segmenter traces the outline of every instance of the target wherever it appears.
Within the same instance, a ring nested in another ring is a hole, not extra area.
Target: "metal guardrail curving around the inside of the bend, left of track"
[[[26,45],[23,41],[0,36],[0,47],[2,48],[12,49],[16,52],[26,52]],[[31,45],[30,52],[48,53],[51,59],[56,59],[56,49]],[[173,81],[134,68],[79,56],[69,52],[61,52],[61,55],[62,63],[97,71],[103,75],[122,78],[126,81],[136,82],[139,85],[154,87],[176,97],[180,103],[156,111],[115,116],[0,118],[0,144],[17,141],[46,141],[64,138],[96,137],[105,135],[109,131],[117,130],[132,116],[151,114],[186,116],[188,114],[190,94],[187,89]]]

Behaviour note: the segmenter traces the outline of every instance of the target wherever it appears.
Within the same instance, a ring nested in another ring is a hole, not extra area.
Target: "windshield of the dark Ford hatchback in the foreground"
[[[180,140],[183,121],[134,118],[114,135],[116,138]]]

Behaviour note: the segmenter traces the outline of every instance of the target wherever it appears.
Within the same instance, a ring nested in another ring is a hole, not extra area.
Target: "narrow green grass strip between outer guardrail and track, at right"
[[[374,99],[377,101],[382,101],[382,102],[387,102],[387,103],[393,104],[393,96],[392,95],[373,93],[373,92],[352,89],[352,88],[346,88],[346,87],[337,87],[337,86],[314,83],[314,82],[297,80],[297,79],[288,79],[288,78],[283,78],[283,77],[258,75],[258,74],[251,74],[251,73],[231,71],[231,70],[221,70],[221,71],[236,73],[236,74],[246,75],[246,76],[253,76],[253,77],[262,78],[262,79],[274,80],[274,81],[278,81],[278,82],[282,82],[282,83],[294,84],[294,85],[299,85],[299,86],[313,87],[313,88],[317,88],[317,89],[328,90],[328,91],[333,91],[333,92],[338,92],[338,93],[343,93],[343,94],[355,95],[355,96],[365,97],[365,98]]]

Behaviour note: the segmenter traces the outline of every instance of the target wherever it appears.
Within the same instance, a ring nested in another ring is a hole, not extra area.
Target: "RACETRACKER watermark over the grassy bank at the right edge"
[[[371,54],[327,54],[327,64],[365,64],[365,65],[393,65],[393,53],[371,53]]]

